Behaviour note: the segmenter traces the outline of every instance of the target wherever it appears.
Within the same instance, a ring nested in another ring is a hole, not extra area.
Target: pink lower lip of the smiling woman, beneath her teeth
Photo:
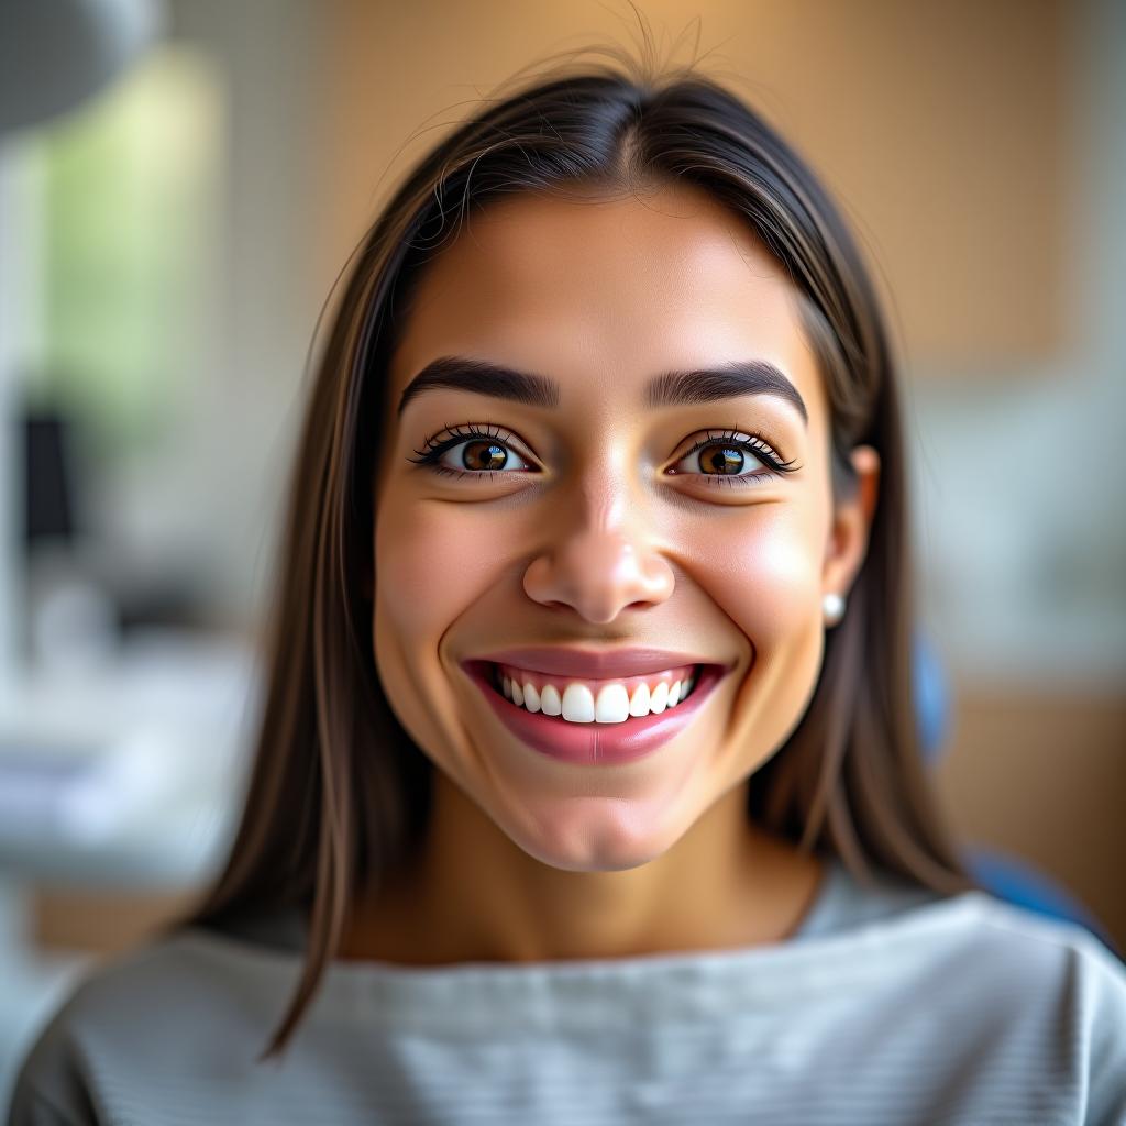
[[[501,723],[521,742],[549,758],[582,766],[619,766],[652,753],[691,723],[726,672],[717,665],[704,665],[691,695],[660,714],[631,716],[624,723],[569,723],[560,716],[529,712],[497,691],[491,681],[493,665],[488,661],[468,662],[467,671]]]

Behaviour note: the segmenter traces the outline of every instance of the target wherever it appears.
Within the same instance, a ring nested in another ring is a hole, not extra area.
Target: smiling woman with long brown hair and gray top
[[[226,869],[16,1126],[1126,1119],[1121,967],[936,810],[881,314],[732,93],[574,69],[438,144],[292,489]]]

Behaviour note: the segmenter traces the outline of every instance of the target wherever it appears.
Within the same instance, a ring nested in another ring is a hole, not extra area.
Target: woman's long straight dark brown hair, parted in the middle
[[[265,712],[222,874],[175,927],[242,912],[307,915],[304,971],[262,1058],[280,1052],[336,955],[351,904],[409,860],[431,765],[397,722],[372,647],[373,449],[388,356],[421,268],[470,208],[517,191],[677,181],[741,215],[803,302],[832,414],[833,490],[870,444],[881,490],[843,620],[799,724],[748,788],[767,830],[948,895],[976,887],[918,747],[906,483],[882,314],[835,207],[794,150],[691,68],[565,65],[491,98],[405,177],[354,254],[329,319],[291,484]]]

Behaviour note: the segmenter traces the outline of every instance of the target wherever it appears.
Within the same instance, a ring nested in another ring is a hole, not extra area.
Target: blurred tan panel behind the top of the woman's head
[[[336,276],[412,157],[535,59],[638,38],[593,2],[336,0],[324,24],[318,272]],[[658,54],[775,122],[835,193],[912,369],[1019,372],[1066,347],[1076,202],[1065,0],[651,0]],[[697,28],[696,17],[699,17]],[[636,54],[633,48],[632,53]],[[404,145],[404,142],[406,144]]]

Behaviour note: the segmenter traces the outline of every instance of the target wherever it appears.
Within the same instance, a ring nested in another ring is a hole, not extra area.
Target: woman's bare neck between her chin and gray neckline
[[[440,771],[434,798],[421,855],[356,905],[340,957],[531,963],[780,942],[820,886],[820,860],[749,824],[745,786],[660,857],[622,872],[542,864]]]

